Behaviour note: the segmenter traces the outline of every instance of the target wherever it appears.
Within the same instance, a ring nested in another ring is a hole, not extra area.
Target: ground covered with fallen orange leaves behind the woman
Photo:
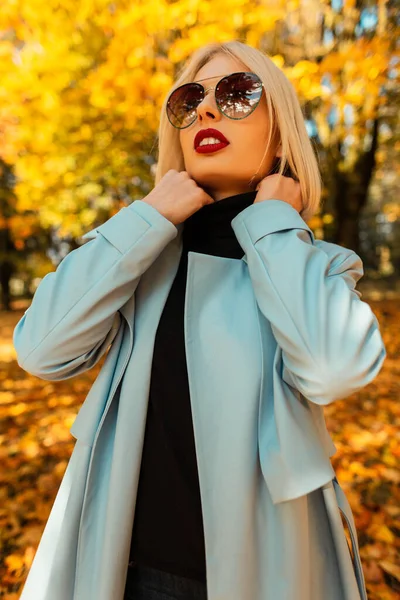
[[[324,411],[337,448],[332,464],[355,518],[368,598],[395,600],[400,595],[400,303],[370,304],[385,340],[385,364],[375,381]],[[12,313],[0,312],[4,600],[20,596],[74,447],[69,428],[105,359],[67,381],[30,376],[18,366],[12,346],[26,307],[21,303]]]

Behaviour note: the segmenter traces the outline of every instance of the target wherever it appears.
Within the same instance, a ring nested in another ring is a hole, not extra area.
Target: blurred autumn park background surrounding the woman
[[[12,332],[79,237],[154,186],[161,104],[210,41],[266,52],[295,86],[324,182],[316,237],[355,250],[388,357],[325,407],[370,600],[400,597],[400,1],[2,0],[0,598],[16,600],[104,359],[52,384]]]

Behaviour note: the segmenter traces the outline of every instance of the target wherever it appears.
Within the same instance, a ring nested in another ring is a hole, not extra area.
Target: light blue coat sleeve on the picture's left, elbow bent
[[[118,310],[177,231],[156,208],[135,200],[86,233],[89,241],[42,279],[14,329],[20,367],[49,380],[91,368],[116,335]]]

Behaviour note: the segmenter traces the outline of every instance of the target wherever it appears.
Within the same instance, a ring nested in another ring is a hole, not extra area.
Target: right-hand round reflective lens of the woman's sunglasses
[[[227,117],[242,119],[254,110],[262,89],[262,82],[256,74],[234,73],[219,82],[215,97]]]

